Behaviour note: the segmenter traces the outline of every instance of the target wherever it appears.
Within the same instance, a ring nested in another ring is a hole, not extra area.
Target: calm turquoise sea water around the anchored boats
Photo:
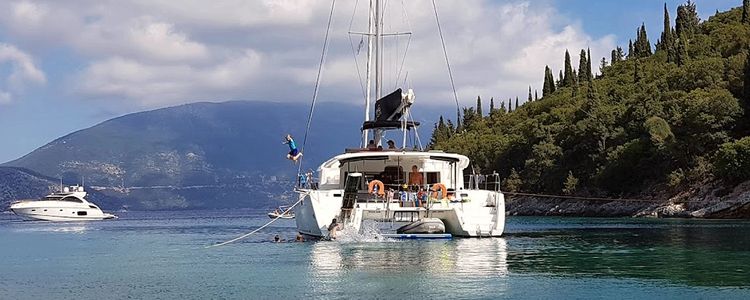
[[[259,211],[0,215],[0,299],[750,298],[750,222],[509,217],[492,239],[272,243]]]

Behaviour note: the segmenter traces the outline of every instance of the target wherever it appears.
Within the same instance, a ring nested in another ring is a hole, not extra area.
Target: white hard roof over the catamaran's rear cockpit
[[[362,149],[358,152],[344,153],[334,156],[324,162],[321,168],[338,167],[338,165],[350,161],[359,160],[395,160],[395,159],[416,159],[416,160],[441,160],[446,162],[457,163],[460,169],[469,166],[469,158],[461,154],[445,153],[441,151],[405,151],[401,149],[383,149],[367,150]]]

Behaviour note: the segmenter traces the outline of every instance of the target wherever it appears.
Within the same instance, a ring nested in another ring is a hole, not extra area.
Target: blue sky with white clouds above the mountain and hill
[[[337,1],[320,101],[363,103],[366,0]],[[385,93],[454,104],[432,2],[386,1]],[[702,19],[740,0],[697,0]],[[666,1],[671,17],[684,1]],[[526,98],[565,49],[599,61],[664,1],[437,0],[461,105]],[[330,1],[0,0],[0,162],[127,113],[198,101],[308,105]],[[408,47],[407,47],[408,46]],[[595,68],[596,69],[596,68]],[[540,91],[541,92],[541,91]],[[356,125],[353,125],[356,126]]]

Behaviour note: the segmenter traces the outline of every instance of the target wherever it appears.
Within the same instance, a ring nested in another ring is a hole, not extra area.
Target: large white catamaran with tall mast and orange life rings
[[[300,197],[295,207],[297,230],[325,238],[329,228],[339,230],[341,224],[343,229],[361,232],[369,228],[362,225],[365,221],[393,228],[437,219],[452,236],[502,235],[505,198],[499,190],[498,175],[467,175],[465,170],[471,165],[468,157],[424,151],[418,142],[407,145],[407,141],[419,141],[415,136],[419,123],[410,119],[413,91],[397,89],[381,95],[382,39],[392,36],[381,32],[381,2],[370,1],[370,29],[362,34],[368,41],[368,72],[360,148],[346,149],[325,161],[318,168],[316,184],[295,189]],[[374,91],[370,78],[375,79]],[[378,99],[374,118],[370,114],[371,96]],[[383,148],[389,132],[396,132],[391,137],[400,142],[400,147],[389,140]]]

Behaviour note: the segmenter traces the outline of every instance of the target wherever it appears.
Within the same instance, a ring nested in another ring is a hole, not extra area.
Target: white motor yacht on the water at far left
[[[64,187],[42,199],[14,202],[10,210],[21,217],[45,221],[91,221],[114,219],[117,216],[102,212],[85,199],[82,186]]]

